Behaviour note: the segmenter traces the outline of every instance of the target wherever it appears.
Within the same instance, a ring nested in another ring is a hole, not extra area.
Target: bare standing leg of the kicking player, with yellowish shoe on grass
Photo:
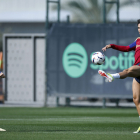
[[[139,119],[140,119],[140,79],[138,79],[137,81],[135,78],[133,79],[132,91],[133,91],[133,102],[136,105],[137,112],[139,114]],[[140,127],[134,133],[140,133]]]

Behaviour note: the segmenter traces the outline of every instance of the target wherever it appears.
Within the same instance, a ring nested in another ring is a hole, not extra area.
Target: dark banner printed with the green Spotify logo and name
[[[132,98],[133,78],[108,83],[98,70],[113,74],[131,67],[134,51],[108,49],[103,65],[94,65],[91,56],[107,44],[127,46],[137,37],[136,24],[54,24],[47,35],[47,93]]]

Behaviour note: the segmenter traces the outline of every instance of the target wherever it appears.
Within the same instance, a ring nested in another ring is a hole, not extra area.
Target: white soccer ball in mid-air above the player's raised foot
[[[105,55],[101,52],[93,53],[92,62],[95,65],[102,65],[105,62]]]

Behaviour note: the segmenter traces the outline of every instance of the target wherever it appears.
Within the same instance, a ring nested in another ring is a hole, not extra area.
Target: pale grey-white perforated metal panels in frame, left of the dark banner
[[[3,55],[6,103],[44,105],[45,35],[5,34]]]

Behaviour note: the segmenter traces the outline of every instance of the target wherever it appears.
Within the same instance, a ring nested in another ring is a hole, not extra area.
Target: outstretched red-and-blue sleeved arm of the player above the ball
[[[102,51],[106,51],[106,49],[108,48],[112,48],[112,49],[119,50],[122,52],[129,52],[136,49],[136,41],[128,46],[109,44],[109,45],[106,45],[104,48],[102,48]]]

